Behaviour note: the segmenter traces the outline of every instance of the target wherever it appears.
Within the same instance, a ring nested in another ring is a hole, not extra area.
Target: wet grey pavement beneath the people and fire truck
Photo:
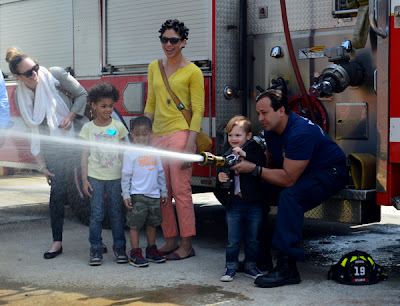
[[[225,260],[224,208],[210,193],[194,195],[196,256],[147,268],[117,264],[110,251],[101,266],[89,266],[88,227],[68,207],[64,251],[44,260],[51,230],[49,187],[41,176],[0,177],[0,199],[0,305],[400,304],[400,214],[391,207],[383,209],[380,223],[365,226],[306,221],[303,235],[309,260],[298,263],[302,282],[262,289],[241,273],[233,282],[219,281]],[[110,230],[103,231],[103,239],[110,250]],[[140,239],[145,248],[144,233]],[[157,244],[163,242],[159,231]],[[370,252],[380,264],[386,259],[382,265],[389,279],[371,286],[327,280],[330,265],[356,248]]]

